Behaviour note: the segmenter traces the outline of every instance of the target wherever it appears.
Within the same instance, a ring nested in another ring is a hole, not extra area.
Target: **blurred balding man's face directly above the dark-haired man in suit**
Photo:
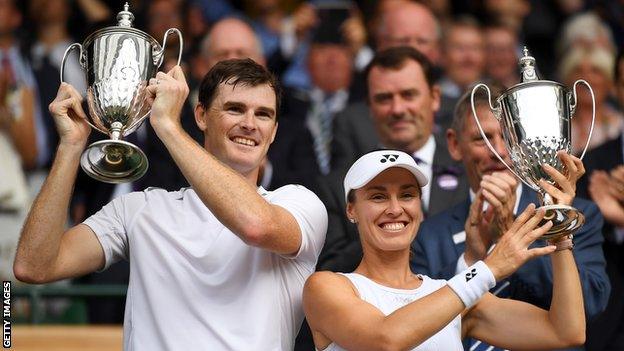
[[[397,46],[411,46],[422,52],[431,62],[440,60],[437,23],[422,5],[405,4],[392,8],[384,15],[382,29],[377,36],[379,51]]]

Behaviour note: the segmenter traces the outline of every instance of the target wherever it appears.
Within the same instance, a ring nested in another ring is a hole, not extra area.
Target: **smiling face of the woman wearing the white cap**
[[[355,191],[347,215],[357,221],[364,247],[409,249],[423,217],[420,186],[410,171],[389,168]]]

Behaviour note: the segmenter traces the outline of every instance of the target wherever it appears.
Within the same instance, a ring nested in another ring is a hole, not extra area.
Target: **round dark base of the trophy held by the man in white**
[[[123,140],[101,140],[82,153],[80,166],[91,178],[111,184],[141,178],[149,162],[136,145]]]

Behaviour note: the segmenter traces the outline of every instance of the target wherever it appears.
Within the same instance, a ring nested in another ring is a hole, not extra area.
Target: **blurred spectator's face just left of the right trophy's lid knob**
[[[491,28],[485,31],[485,69],[490,77],[504,82],[517,75],[517,46],[516,37],[508,30]]]

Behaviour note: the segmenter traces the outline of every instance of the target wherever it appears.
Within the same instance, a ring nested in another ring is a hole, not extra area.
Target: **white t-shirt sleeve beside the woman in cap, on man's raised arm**
[[[294,259],[314,271],[327,232],[327,210],[321,200],[301,185],[287,185],[274,192],[270,200],[290,212],[301,230],[301,246],[296,254],[284,256]]]

